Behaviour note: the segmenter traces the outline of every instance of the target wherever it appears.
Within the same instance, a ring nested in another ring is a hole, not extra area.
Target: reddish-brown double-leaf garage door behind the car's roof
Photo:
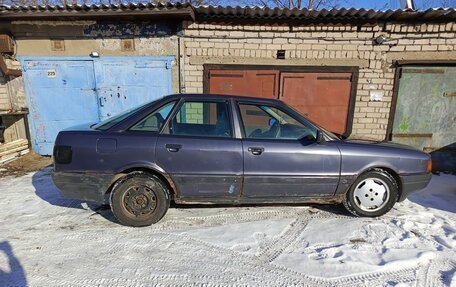
[[[352,73],[209,69],[208,92],[281,99],[322,127],[351,132]],[[207,89],[206,89],[207,90]]]

